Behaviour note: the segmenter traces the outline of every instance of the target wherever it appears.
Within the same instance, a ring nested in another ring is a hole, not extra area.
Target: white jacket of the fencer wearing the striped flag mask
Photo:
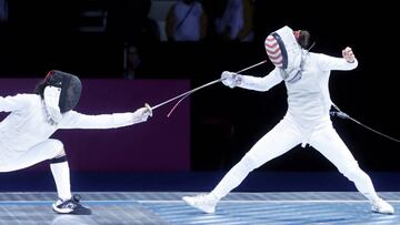
[[[288,115],[306,130],[311,129],[322,119],[329,117],[332,101],[329,94],[329,76],[332,70],[352,70],[358,65],[343,58],[334,58],[322,53],[307,53],[301,79],[284,82],[288,93]],[[281,70],[276,68],[263,78],[242,75],[239,86],[268,91],[283,81]]]

